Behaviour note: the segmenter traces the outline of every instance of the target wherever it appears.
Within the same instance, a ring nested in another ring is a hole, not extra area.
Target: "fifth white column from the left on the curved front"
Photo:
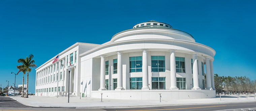
[[[197,63],[197,53],[193,54],[193,80],[194,87],[192,90],[199,90],[199,81],[198,81],[198,63]]]

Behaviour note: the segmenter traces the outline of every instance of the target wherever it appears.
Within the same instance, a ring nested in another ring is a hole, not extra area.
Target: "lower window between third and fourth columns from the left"
[[[152,89],[165,89],[165,77],[152,77]]]

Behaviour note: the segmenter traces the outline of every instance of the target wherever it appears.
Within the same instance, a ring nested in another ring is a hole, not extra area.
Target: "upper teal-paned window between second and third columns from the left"
[[[142,72],[142,56],[130,57],[130,72]]]

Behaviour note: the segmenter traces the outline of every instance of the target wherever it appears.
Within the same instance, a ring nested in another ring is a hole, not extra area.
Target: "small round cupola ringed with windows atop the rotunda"
[[[159,21],[155,21],[155,20],[150,20],[150,21],[147,21],[147,22],[142,22],[142,23],[138,23],[138,24],[134,25],[133,29],[143,28],[143,27],[172,28],[172,26],[167,24],[167,23],[163,23],[163,22],[159,22]]]

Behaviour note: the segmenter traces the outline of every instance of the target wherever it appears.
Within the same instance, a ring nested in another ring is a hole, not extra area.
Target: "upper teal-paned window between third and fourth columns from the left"
[[[151,56],[151,71],[152,72],[164,72],[165,71],[164,56]]]

